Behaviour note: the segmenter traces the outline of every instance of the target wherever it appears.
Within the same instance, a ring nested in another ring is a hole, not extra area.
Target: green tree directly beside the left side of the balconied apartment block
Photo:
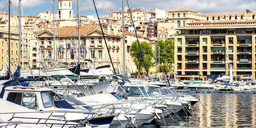
[[[160,53],[160,62],[168,63],[171,66],[171,63],[174,63],[174,40],[157,40],[156,48],[158,51],[158,47],[160,47],[160,52],[163,55],[163,60]],[[158,52],[157,52],[158,54]],[[157,55],[158,57],[158,55]]]

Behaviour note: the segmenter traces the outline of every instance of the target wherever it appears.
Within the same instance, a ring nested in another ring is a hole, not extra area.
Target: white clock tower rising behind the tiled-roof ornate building
[[[77,23],[74,22],[73,18],[72,1],[73,0],[59,0],[57,21],[59,22],[60,27],[77,25]]]

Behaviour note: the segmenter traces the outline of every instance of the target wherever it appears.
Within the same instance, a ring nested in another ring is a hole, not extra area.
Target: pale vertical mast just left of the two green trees
[[[123,31],[123,74],[126,75],[126,46],[125,46],[125,41],[124,41],[124,0],[122,0],[122,31]]]

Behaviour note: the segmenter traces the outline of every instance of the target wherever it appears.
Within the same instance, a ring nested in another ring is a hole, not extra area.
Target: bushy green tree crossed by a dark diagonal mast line
[[[141,52],[143,54],[144,62],[146,68],[149,69],[153,65],[154,52],[152,50],[151,44],[146,41],[140,42]],[[133,41],[132,46],[130,46],[130,55],[133,58],[133,62],[137,66],[138,73],[142,73],[142,69],[144,68],[143,60],[140,54],[140,48],[138,47],[138,42]]]

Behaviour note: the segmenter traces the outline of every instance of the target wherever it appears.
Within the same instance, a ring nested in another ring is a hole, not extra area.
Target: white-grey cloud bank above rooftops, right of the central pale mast
[[[132,7],[140,7],[141,9],[164,9],[174,10],[180,7],[195,10],[200,13],[218,13],[218,12],[242,12],[246,9],[255,11],[255,0],[130,0],[128,1]]]

